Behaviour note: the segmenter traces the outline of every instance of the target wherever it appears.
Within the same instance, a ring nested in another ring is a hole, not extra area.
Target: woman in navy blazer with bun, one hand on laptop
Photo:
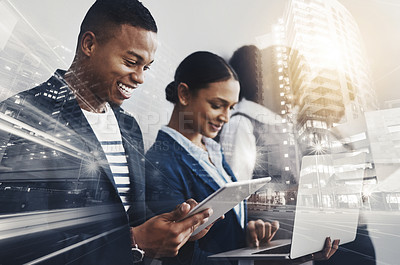
[[[212,139],[238,102],[236,73],[221,57],[195,52],[180,63],[174,79],[166,88],[167,100],[175,104],[171,119],[146,154],[146,200],[155,214],[190,198],[201,202],[225,183],[236,181]],[[214,264],[207,256],[244,247],[246,242],[250,246],[268,242],[278,226],[261,220],[247,223],[242,202],[203,238],[188,242],[163,264]]]

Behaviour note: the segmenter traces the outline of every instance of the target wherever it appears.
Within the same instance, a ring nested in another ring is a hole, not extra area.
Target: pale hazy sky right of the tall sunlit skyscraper
[[[378,101],[400,99],[400,2],[342,0],[364,40]]]

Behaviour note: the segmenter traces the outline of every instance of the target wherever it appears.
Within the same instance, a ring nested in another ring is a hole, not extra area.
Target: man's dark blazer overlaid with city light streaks
[[[130,172],[126,214],[63,74],[0,104],[0,263],[132,264],[129,226],[145,220],[142,133],[113,107]]]

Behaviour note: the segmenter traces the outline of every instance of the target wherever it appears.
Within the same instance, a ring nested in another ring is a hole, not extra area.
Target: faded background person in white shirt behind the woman
[[[242,46],[229,64],[239,76],[240,101],[219,136],[226,160],[240,180],[270,176],[274,182],[282,163],[274,150],[282,141],[282,118],[262,105],[261,52],[254,45]]]

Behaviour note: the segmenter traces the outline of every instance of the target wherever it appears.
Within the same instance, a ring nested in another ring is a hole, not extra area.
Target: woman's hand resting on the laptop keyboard
[[[247,223],[247,245],[258,247],[260,244],[269,243],[278,229],[278,221],[265,222],[261,219],[249,221]]]

